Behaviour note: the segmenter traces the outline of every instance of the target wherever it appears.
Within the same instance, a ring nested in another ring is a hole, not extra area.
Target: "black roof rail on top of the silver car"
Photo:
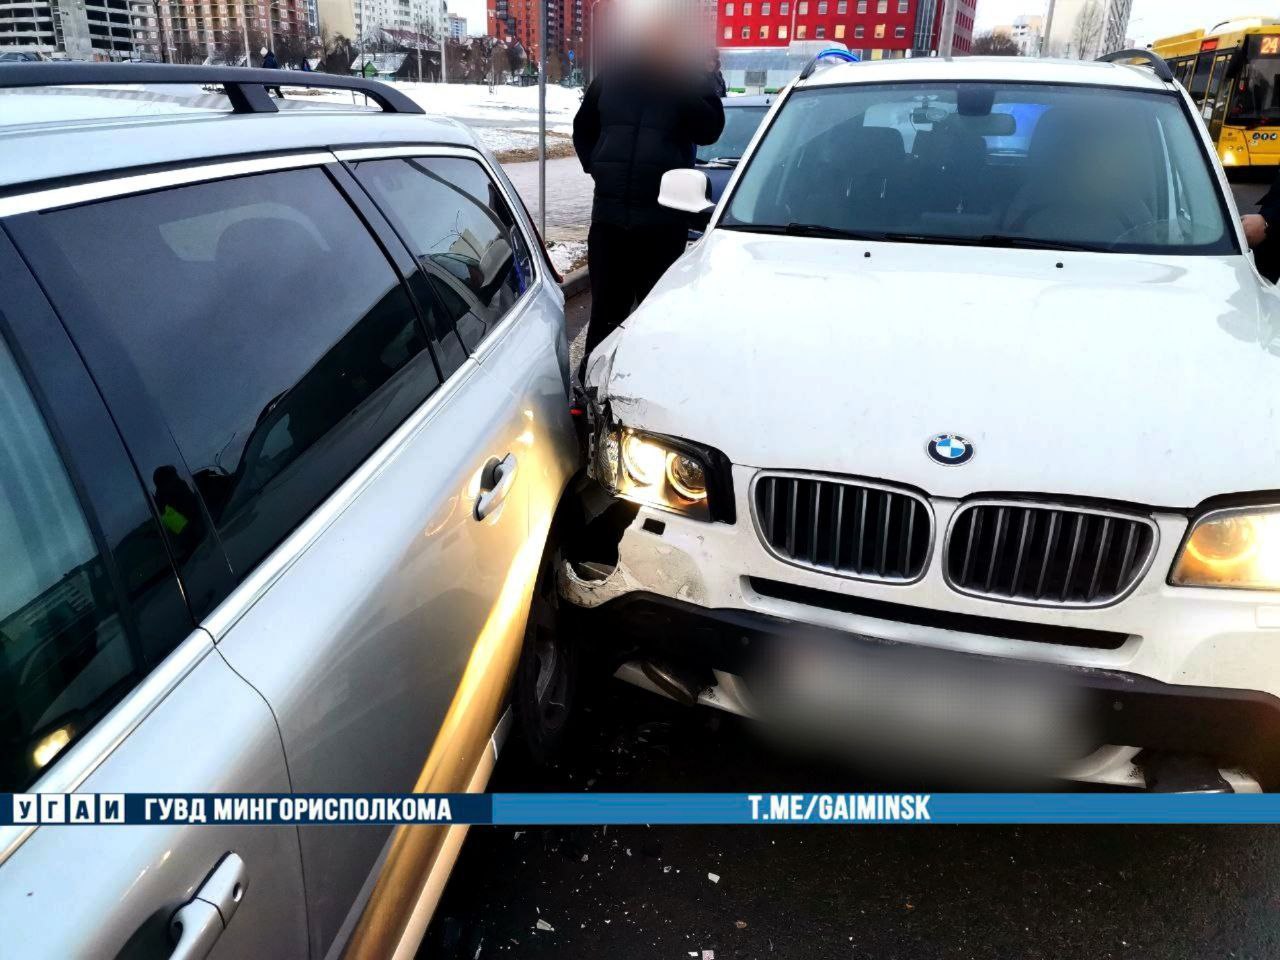
[[[349,90],[364,93],[384,113],[421,114],[421,106],[398,90],[365,79],[310,70],[264,70],[255,67],[201,67],[157,63],[10,63],[0,69],[0,90],[18,87],[81,87],[111,83],[165,84],[216,83],[227,91],[238,114],[278,113],[268,87]]]

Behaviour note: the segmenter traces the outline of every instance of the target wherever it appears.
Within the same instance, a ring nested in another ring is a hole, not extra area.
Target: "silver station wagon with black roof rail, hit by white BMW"
[[[0,128],[0,791],[479,791],[513,726],[553,749],[579,447],[502,168],[362,79],[18,64],[5,115],[45,86]],[[0,942],[412,955],[463,832],[0,828]]]

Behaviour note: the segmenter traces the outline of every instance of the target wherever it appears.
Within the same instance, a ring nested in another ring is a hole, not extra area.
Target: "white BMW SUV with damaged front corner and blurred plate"
[[[1277,782],[1280,297],[1147,60],[778,99],[590,358],[559,580],[618,676],[913,762]]]

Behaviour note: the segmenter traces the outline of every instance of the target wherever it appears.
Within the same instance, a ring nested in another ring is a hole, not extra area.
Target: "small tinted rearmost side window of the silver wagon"
[[[452,305],[458,333],[474,349],[534,276],[498,186],[484,166],[462,157],[370,160],[355,169],[436,294]]]

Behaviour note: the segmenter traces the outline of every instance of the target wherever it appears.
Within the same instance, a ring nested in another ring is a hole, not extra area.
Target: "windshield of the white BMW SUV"
[[[1236,252],[1181,102],[1050,84],[850,84],[787,100],[721,227],[910,242]]]

